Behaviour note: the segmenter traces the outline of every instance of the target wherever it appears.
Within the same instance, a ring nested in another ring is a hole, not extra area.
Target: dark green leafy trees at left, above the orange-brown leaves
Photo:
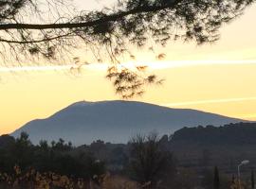
[[[54,172],[60,175],[76,178],[92,179],[95,175],[105,172],[105,165],[97,160],[93,154],[73,153],[71,144],[64,144],[64,140],[53,142],[49,146],[42,141],[33,146],[26,133],[11,142],[8,147],[0,147],[0,170],[11,173],[12,167],[18,164],[27,171],[33,167],[39,172]]]

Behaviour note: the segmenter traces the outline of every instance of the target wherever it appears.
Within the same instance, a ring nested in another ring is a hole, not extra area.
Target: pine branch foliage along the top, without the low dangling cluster
[[[162,44],[178,38],[208,43],[218,39],[218,29],[223,23],[240,15],[253,2],[123,0],[110,9],[74,12],[65,7],[68,0],[1,0],[0,30],[6,34],[1,35],[1,42],[17,43],[30,53],[42,53],[46,58],[51,58],[60,43],[70,38],[89,45],[104,45],[109,48],[110,56],[127,50],[125,40],[138,46],[149,38]],[[42,4],[51,11],[48,16]],[[28,16],[36,13],[34,16],[41,24],[22,17],[25,12]]]

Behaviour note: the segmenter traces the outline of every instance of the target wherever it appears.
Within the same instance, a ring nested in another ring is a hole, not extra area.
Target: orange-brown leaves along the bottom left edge
[[[0,173],[0,188],[2,189],[138,189],[138,183],[122,177],[104,174],[94,180],[67,177],[53,172],[40,173],[34,169],[23,172],[19,166],[14,166],[14,173]]]

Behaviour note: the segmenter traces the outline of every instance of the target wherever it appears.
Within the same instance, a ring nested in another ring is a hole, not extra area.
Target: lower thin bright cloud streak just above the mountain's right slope
[[[168,106],[168,107],[184,107],[184,106],[190,106],[190,105],[243,102],[243,101],[254,101],[254,100],[256,100],[256,96],[241,97],[241,98],[224,98],[224,99],[210,99],[210,100],[174,102],[174,103],[168,103],[168,104],[163,104],[163,105]]]

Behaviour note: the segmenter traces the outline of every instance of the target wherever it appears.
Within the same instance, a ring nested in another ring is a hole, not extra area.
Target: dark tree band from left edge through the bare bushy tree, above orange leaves
[[[159,180],[166,184],[175,170],[172,153],[153,133],[137,135],[125,147],[101,141],[76,147],[62,139],[50,144],[41,141],[35,146],[25,132],[16,139],[9,135],[0,137],[0,188],[1,184],[9,188],[9,184],[24,182],[27,175],[35,182],[38,177],[52,180],[52,173],[57,174],[55,178],[65,176],[99,184],[101,176],[112,173],[133,180],[138,186],[147,184],[153,188],[160,184]],[[18,179],[13,178],[15,174]],[[26,183],[23,186],[28,187]]]

